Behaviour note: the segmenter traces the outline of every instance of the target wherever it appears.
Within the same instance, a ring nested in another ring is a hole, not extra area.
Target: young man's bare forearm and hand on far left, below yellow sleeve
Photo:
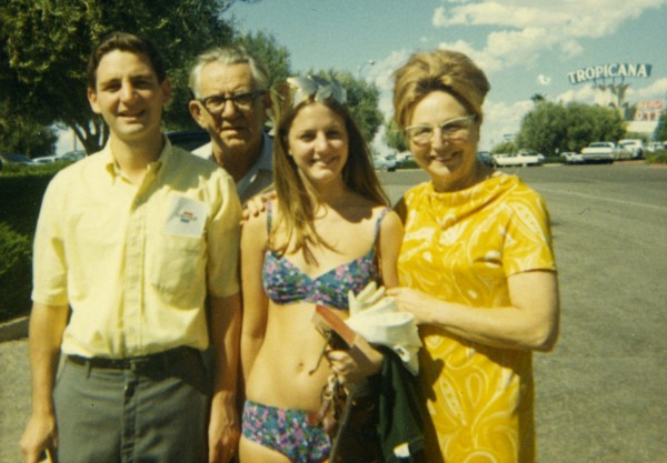
[[[53,386],[67,315],[67,305],[32,306],[29,338],[32,412],[21,437],[21,454],[29,463],[37,462],[46,449],[58,445]]]

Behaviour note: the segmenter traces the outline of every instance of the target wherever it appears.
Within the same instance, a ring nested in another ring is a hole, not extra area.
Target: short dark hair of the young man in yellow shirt
[[[167,68],[157,47],[148,39],[135,36],[128,32],[111,32],[90,53],[88,60],[88,88],[96,89],[97,69],[102,58],[115,50],[141,53],[148,58],[150,64],[158,77],[158,82],[167,78]]]

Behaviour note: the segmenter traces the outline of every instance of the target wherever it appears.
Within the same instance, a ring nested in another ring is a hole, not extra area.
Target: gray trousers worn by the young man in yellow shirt
[[[192,353],[150,369],[66,360],[53,392],[58,461],[206,462],[210,387]]]

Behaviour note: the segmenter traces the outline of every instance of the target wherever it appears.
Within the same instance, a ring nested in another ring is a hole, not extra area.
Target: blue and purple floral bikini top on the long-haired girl
[[[318,278],[310,278],[285,255],[267,249],[262,268],[263,288],[269,299],[278,304],[312,302],[335,309],[348,309],[348,291],[359,293],[371,281],[379,282],[380,273],[375,259],[375,241],[380,222],[389,209],[382,210],[375,227],[374,245],[368,252],[339,265]],[[271,204],[267,203],[267,227],[271,231]]]

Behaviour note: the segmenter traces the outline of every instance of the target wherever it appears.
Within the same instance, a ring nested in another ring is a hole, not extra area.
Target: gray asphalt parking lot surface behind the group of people
[[[667,168],[507,169],[549,207],[561,294],[554,352],[535,355],[540,463],[667,463]],[[419,171],[381,173],[396,200]],[[29,413],[26,340],[0,343],[0,462]]]

